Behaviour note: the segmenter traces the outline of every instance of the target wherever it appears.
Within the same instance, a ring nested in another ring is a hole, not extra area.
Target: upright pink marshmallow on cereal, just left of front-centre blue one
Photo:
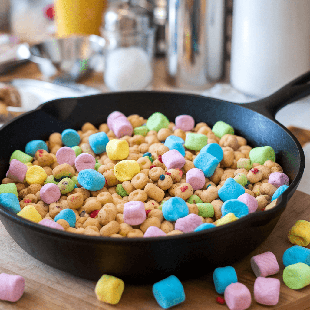
[[[139,225],[146,220],[144,203],[142,201],[128,201],[124,204],[124,223]]]

